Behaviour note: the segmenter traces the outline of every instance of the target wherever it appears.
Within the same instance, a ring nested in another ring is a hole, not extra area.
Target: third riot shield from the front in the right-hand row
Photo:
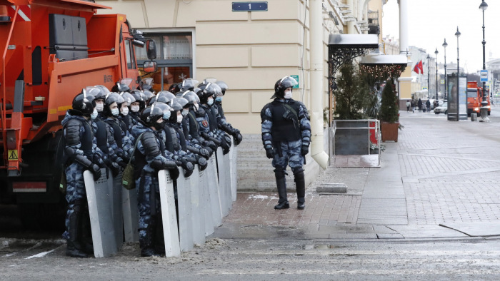
[[[191,215],[192,215],[192,230],[193,242],[196,244],[204,244],[205,242],[205,221],[202,217],[204,210],[201,205],[201,193],[203,183],[200,182],[198,165],[194,165],[193,175],[191,175]]]

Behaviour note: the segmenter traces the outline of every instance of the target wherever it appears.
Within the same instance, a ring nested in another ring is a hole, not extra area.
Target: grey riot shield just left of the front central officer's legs
[[[137,189],[121,190],[124,215],[125,242],[139,242],[139,209],[137,208]]]

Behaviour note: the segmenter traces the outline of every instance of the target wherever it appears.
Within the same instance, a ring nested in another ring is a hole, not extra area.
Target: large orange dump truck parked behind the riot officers
[[[0,204],[17,204],[25,223],[43,223],[64,204],[61,121],[74,96],[125,77],[139,81],[134,46],[154,48],[125,15],[97,9],[109,7],[0,0]]]

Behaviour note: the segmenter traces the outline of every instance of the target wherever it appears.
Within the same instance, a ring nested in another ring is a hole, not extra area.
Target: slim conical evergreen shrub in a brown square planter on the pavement
[[[399,106],[392,78],[387,79],[386,86],[382,91],[379,117],[382,141],[397,142],[399,129]]]

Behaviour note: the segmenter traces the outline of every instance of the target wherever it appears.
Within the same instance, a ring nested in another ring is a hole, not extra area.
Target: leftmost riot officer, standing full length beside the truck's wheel
[[[81,239],[82,223],[86,201],[86,190],[83,173],[90,170],[94,180],[101,178],[101,168],[104,162],[101,150],[96,146],[96,139],[91,128],[91,116],[95,118],[94,96],[82,90],[73,99],[72,108],[66,112],[61,122],[66,147],[64,148],[64,163],[66,168],[66,255],[70,257],[89,257],[90,252],[84,249]]]

